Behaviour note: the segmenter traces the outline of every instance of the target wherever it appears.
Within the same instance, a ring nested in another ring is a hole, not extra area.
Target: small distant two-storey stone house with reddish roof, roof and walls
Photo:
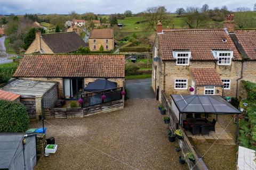
[[[89,37],[89,47],[91,51],[99,51],[100,46],[105,51],[115,48],[115,39],[113,29],[93,29]]]

